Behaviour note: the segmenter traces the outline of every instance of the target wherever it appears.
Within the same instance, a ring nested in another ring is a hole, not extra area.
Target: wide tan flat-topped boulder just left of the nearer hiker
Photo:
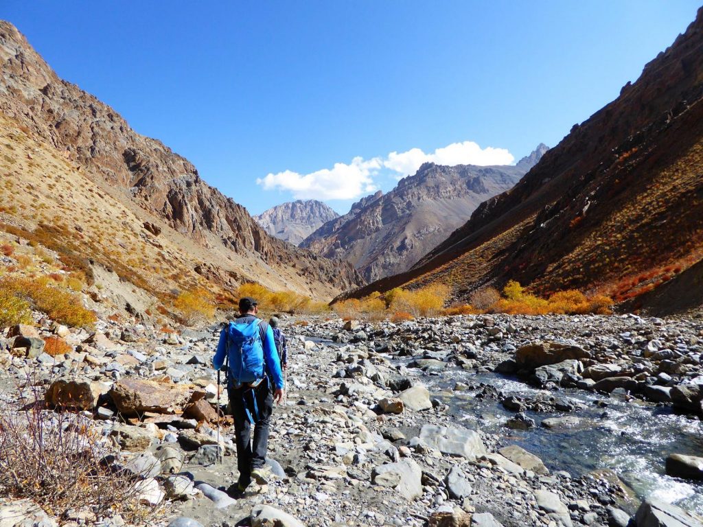
[[[127,378],[109,392],[117,410],[127,417],[143,412],[176,413],[190,398],[188,386]]]

